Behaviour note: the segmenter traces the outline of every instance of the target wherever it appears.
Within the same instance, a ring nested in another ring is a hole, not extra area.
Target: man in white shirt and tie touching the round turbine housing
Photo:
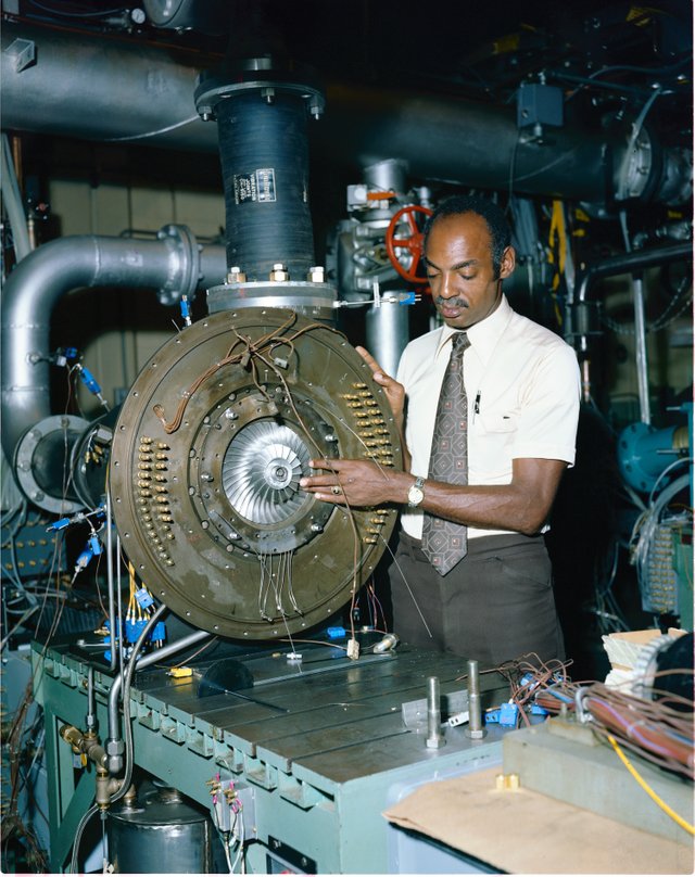
[[[574,461],[579,368],[571,347],[504,296],[510,240],[490,201],[440,205],[425,263],[444,326],[407,345],[397,380],[358,348],[405,427],[405,471],[313,460],[328,473],[301,482],[329,503],[405,506],[390,573],[394,630],[483,666],[565,654],[541,534]],[[454,433],[435,430],[446,411]]]

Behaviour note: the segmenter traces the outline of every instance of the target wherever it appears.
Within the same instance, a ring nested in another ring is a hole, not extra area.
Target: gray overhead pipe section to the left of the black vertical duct
[[[34,64],[17,64],[16,40],[35,43]],[[198,53],[15,22],[0,45],[4,129],[217,152],[193,102]]]

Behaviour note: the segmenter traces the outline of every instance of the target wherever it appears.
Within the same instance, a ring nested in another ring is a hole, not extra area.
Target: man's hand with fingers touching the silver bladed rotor
[[[355,508],[402,503],[401,494],[407,492],[406,483],[413,481],[405,472],[381,467],[371,460],[311,460],[309,466],[328,471],[328,474],[301,479],[303,491],[324,503]]]

